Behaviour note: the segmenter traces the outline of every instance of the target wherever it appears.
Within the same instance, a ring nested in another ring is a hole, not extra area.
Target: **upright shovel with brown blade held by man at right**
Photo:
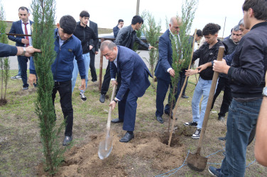
[[[224,47],[219,47],[218,57],[217,61],[222,61],[222,57],[224,55]],[[197,144],[197,152],[195,154],[188,154],[187,157],[187,166],[189,166],[190,169],[195,171],[204,171],[207,165],[207,157],[200,156],[200,149],[202,146],[202,140],[205,135],[206,127],[207,127],[207,121],[209,120],[209,112],[210,108],[212,108],[212,100],[214,97],[214,92],[217,85],[217,79],[218,79],[219,73],[214,72],[213,78],[212,78],[212,86],[209,91],[209,99],[207,101],[207,108],[203,120],[202,130],[200,132],[200,139]]]

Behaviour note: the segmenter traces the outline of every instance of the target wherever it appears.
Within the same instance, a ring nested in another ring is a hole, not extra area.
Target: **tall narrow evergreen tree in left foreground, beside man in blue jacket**
[[[38,97],[36,100],[36,114],[40,119],[40,137],[45,156],[45,170],[54,174],[63,159],[65,149],[58,141],[58,135],[64,127],[55,126],[55,108],[52,100],[54,86],[51,64],[55,61],[54,26],[55,0],[33,0],[33,47],[42,52],[34,56],[36,73],[38,76]]]

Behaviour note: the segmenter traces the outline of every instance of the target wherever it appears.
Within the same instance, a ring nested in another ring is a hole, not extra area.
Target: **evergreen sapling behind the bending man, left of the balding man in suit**
[[[160,37],[160,30],[161,25],[160,22],[158,24],[155,21],[155,18],[149,12],[144,12],[146,14],[146,25],[144,26],[146,40],[148,43],[155,47],[156,49],[152,48],[149,53],[149,59],[146,59],[150,66],[151,74],[154,77],[154,67],[156,66],[156,62],[158,62],[158,38]],[[154,79],[153,79],[154,81]]]

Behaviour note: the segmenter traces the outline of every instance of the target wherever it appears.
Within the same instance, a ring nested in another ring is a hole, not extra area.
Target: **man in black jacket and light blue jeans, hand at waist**
[[[88,82],[88,72],[89,72],[89,64],[90,64],[90,55],[89,51],[96,45],[98,45],[97,36],[94,34],[94,31],[87,26],[89,21],[89,13],[87,11],[82,11],[80,13],[80,22],[77,23],[76,29],[73,33],[82,43],[82,56],[85,59],[85,85],[87,88]],[[90,40],[93,39],[94,43],[89,45]],[[72,92],[75,88],[75,83],[78,75],[78,67],[77,60],[73,60],[74,69],[72,72]],[[85,96],[85,90],[80,90],[80,97],[82,101],[86,101],[87,98]]]

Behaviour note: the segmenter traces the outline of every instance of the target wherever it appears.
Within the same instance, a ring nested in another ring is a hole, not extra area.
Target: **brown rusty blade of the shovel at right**
[[[207,158],[200,154],[188,154],[187,166],[194,171],[204,171],[207,165]]]

